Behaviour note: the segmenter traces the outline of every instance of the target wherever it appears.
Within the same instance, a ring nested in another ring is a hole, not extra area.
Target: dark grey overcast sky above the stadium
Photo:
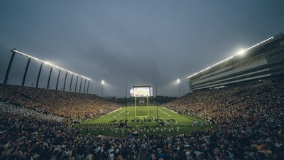
[[[16,48],[91,78],[89,92],[99,96],[104,80],[103,96],[125,97],[126,85],[157,84],[158,95],[178,97],[178,78],[185,95],[187,76],[283,32],[283,15],[283,0],[1,0],[0,80]],[[27,61],[15,56],[9,84],[21,85]],[[27,86],[35,85],[39,68],[31,60]],[[39,87],[46,87],[49,72],[43,65]],[[60,90],[64,79],[61,72]],[[65,90],[70,80],[67,75]],[[74,92],[75,79],[72,84]]]

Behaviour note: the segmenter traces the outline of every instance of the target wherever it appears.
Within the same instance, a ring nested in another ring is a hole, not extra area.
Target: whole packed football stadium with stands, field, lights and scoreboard
[[[188,76],[190,92],[165,104],[149,102],[151,86],[133,86],[133,106],[116,104],[89,94],[76,73],[84,92],[26,87],[26,72],[9,85],[13,56],[33,58],[11,53],[0,85],[1,159],[284,157],[283,33]]]

